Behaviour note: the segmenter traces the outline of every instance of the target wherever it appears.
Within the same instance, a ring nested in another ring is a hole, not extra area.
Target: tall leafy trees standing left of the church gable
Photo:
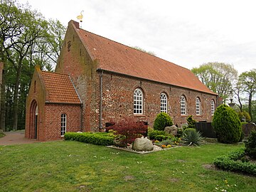
[[[11,129],[16,130],[25,124],[25,101],[34,65],[53,70],[65,27],[58,20],[46,21],[28,4],[0,1],[0,61],[4,62],[1,129],[6,121],[9,129],[12,124]]]

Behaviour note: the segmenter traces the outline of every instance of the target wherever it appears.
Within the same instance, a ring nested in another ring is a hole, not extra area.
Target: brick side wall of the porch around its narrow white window
[[[80,132],[81,108],[80,105],[68,104],[46,104],[45,105],[44,130],[46,140],[61,139],[60,136],[60,117],[66,114],[67,125],[66,132]]]

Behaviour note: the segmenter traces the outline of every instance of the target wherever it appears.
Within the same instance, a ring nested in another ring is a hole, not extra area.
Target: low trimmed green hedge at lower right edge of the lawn
[[[256,164],[240,161],[239,159],[243,156],[245,156],[245,149],[240,149],[240,151],[234,151],[229,155],[218,156],[214,159],[213,164],[223,170],[240,171],[256,176]]]

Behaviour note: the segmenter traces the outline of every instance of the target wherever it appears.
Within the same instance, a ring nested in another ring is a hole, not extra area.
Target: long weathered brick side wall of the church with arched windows
[[[215,95],[111,73],[104,73],[102,81],[103,125],[111,120],[117,121],[120,118],[132,116],[148,121],[149,126],[152,127],[156,114],[160,112],[162,92],[165,92],[168,97],[168,113],[174,120],[174,124],[180,126],[186,123],[186,117],[190,114],[198,121],[211,121],[210,100],[216,101]],[[133,93],[137,87],[144,92],[143,115],[133,114]],[[185,95],[187,101],[188,115],[186,116],[180,114],[181,95]],[[201,116],[196,115],[196,97],[201,100]]]

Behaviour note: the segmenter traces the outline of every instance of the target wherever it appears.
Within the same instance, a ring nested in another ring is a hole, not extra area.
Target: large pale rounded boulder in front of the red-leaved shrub
[[[152,151],[154,149],[154,145],[149,139],[142,137],[134,140],[132,149],[135,151]]]

